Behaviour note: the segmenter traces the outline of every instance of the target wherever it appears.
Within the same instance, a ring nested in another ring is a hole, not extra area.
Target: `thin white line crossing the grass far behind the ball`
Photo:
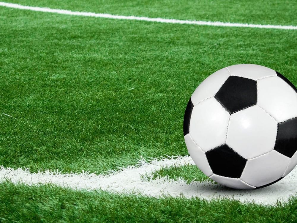
[[[99,18],[110,18],[110,19],[126,19],[126,20],[139,20],[148,22],[160,22],[160,23],[177,23],[177,24],[192,24],[192,25],[203,25],[203,26],[228,26],[228,27],[249,27],[249,28],[263,28],[263,29],[294,29],[297,30],[297,26],[279,26],[279,25],[260,25],[260,24],[244,24],[244,23],[225,23],[225,22],[207,22],[207,21],[188,21],[178,19],[164,19],[164,18],[148,18],[138,16],[124,16],[124,15],[111,15],[93,12],[72,12],[70,10],[50,9],[43,7],[31,7],[19,4],[0,2],[0,6],[5,6],[15,9],[24,9],[37,12],[52,12],[64,15],[80,15],[90,16]]]

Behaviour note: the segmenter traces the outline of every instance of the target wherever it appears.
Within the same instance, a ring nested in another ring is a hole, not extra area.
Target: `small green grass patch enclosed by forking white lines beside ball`
[[[168,177],[173,180],[178,180],[179,178],[182,178],[188,184],[191,183],[193,180],[200,182],[204,180],[211,180],[194,165],[186,165],[181,167],[176,166],[170,168],[161,167],[159,170],[153,172],[151,176],[152,179],[156,179],[158,177]]]

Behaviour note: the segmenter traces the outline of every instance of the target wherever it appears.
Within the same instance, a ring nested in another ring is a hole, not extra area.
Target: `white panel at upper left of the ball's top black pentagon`
[[[199,84],[194,93],[191,96],[193,105],[214,96],[220,87],[229,77],[229,72],[226,68],[218,70],[212,75],[208,76],[204,81]]]

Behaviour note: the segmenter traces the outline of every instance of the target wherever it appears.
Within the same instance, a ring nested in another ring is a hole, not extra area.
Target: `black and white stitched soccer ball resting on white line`
[[[284,178],[297,164],[297,89],[260,65],[225,67],[194,91],[184,139],[209,178],[256,189]]]

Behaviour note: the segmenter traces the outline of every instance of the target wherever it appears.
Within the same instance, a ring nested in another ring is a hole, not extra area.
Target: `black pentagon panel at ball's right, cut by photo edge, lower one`
[[[297,117],[277,124],[274,150],[292,157],[297,150]]]

